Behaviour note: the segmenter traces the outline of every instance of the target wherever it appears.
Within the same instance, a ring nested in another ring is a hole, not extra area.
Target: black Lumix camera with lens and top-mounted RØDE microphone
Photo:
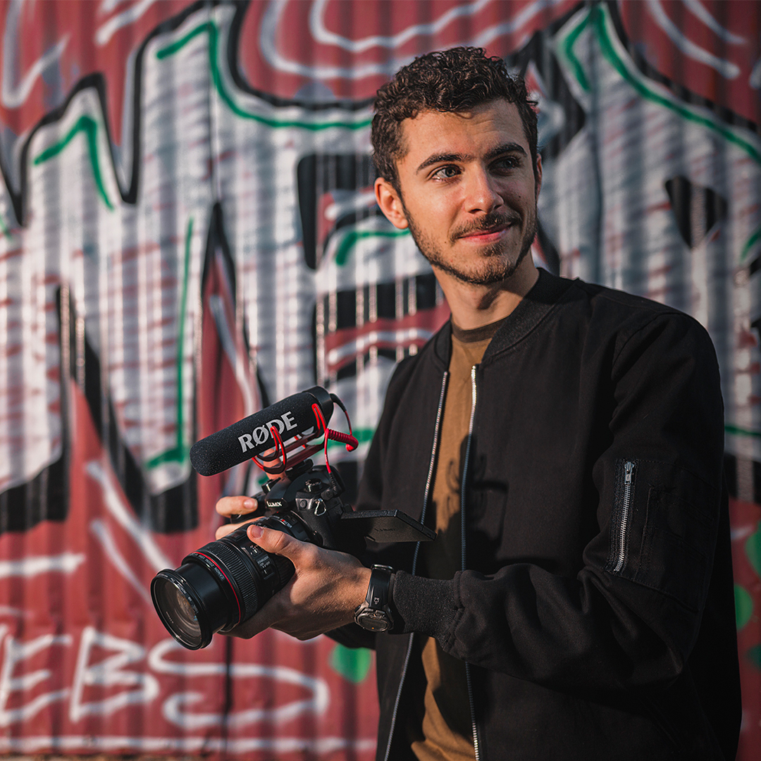
[[[299,424],[299,417],[291,414],[288,402],[305,394],[310,394],[310,399],[296,401],[302,406],[311,403],[312,417],[302,416]],[[317,401],[312,402],[313,399]],[[330,406],[326,400],[330,400]],[[324,389],[315,387],[257,413],[258,418],[250,416],[250,419],[212,435],[217,437],[214,441],[239,441],[241,436],[246,435],[237,435],[240,431],[256,432],[262,428],[259,422],[262,419],[266,419],[266,425],[277,419],[285,420],[298,429],[291,439],[284,442],[279,435],[281,426],[269,426],[267,432],[275,442],[276,454],[265,454],[258,464],[266,473],[279,475],[269,479],[263,491],[256,495],[256,512],[239,516],[238,521],[250,521],[253,517],[253,523],[260,526],[356,557],[365,551],[366,540],[417,542],[434,539],[434,531],[402,511],[354,511],[340,499],[344,486],[339,473],[335,468],[330,468],[327,459],[326,465],[318,466],[306,459],[307,455],[314,454],[323,445],[327,452],[329,438],[346,443],[347,448],[356,446],[356,440],[351,435],[326,427],[326,420],[330,419],[333,411],[333,402],[344,409],[337,396],[328,395]],[[279,418],[272,415],[275,407]],[[285,416],[282,409],[286,409]],[[254,425],[257,422],[259,425]],[[220,438],[222,433],[225,436]],[[323,444],[308,444],[319,437],[324,437]],[[208,439],[194,445],[194,448],[202,445],[198,452],[202,452],[203,457],[199,455],[197,459],[203,462],[193,464],[201,472],[202,467],[207,471],[218,468],[216,472],[220,472],[224,466],[229,466],[230,457],[224,454],[218,457],[218,453],[214,452],[215,465],[207,467],[207,460],[210,459]],[[244,438],[241,447],[245,449],[243,445],[246,443]],[[298,451],[295,457],[291,456],[291,466],[288,467],[288,454],[295,449]],[[239,459],[237,453],[232,457]],[[295,568],[290,560],[265,552],[249,540],[246,532],[247,524],[220,540],[205,544],[183,558],[178,568],[164,569],[151,581],[151,597],[156,612],[170,635],[183,647],[189,650],[205,648],[216,632],[228,632],[247,621],[272,595],[285,587],[294,574]]]

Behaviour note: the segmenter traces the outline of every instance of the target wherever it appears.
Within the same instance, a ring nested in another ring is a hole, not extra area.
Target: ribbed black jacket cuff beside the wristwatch
[[[404,571],[394,574],[391,633],[420,632],[443,642],[451,633],[456,613],[454,581],[423,578]]]

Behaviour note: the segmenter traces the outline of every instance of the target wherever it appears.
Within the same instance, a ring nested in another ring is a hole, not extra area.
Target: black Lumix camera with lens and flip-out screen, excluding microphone
[[[271,479],[256,495],[259,508],[237,517],[283,531],[302,542],[361,556],[366,540],[428,541],[435,532],[405,513],[355,512],[340,499],[334,469],[304,460]],[[191,552],[176,570],[151,581],[154,607],[167,631],[189,650],[205,648],[215,632],[228,632],[253,616],[288,584],[290,560],[265,552],[247,537],[247,524]]]

